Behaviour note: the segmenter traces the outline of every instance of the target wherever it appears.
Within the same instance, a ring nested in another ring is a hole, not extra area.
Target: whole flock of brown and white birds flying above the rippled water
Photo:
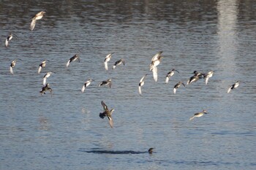
[[[37,15],[35,15],[34,18],[31,19],[31,26],[30,26],[31,31],[34,30],[34,28],[36,26],[36,23],[37,23],[37,20],[42,19],[42,17],[45,15],[45,13],[46,12],[44,12],[44,11],[38,12]],[[16,36],[16,35],[11,33],[9,36],[7,36],[7,39],[5,40],[5,47],[8,47],[8,45],[10,43],[10,40],[12,39],[13,36]],[[66,63],[66,67],[68,67],[69,63],[71,63],[73,61],[80,62],[80,58],[79,58],[78,54],[75,54],[74,56],[69,58],[69,60]],[[107,72],[108,72],[108,62],[110,61],[112,55],[113,55],[113,53],[110,53],[110,54],[106,55],[106,57],[105,57],[104,66],[105,66],[105,70]],[[153,78],[154,78],[155,82],[157,82],[157,66],[159,65],[159,63],[161,63],[162,58],[163,58],[162,51],[160,51],[159,53],[157,53],[156,55],[153,56],[153,58],[151,59],[151,63],[149,65],[149,69],[153,74]],[[13,68],[15,67],[15,64],[16,64],[17,60],[20,60],[20,59],[15,59],[14,61],[11,62],[11,64],[10,64],[10,74],[14,74]],[[48,60],[42,61],[42,63],[39,64],[38,70],[37,70],[38,74],[40,74],[42,69],[45,68],[46,62],[48,62]],[[125,65],[125,61],[124,61],[123,58],[121,58],[120,60],[118,60],[114,63],[113,69],[115,69],[116,66],[121,65],[121,64]],[[166,84],[169,82],[170,77],[172,77],[175,74],[175,72],[178,72],[178,70],[172,69],[172,70],[170,70],[170,72],[167,73],[166,78],[165,78],[165,83]],[[50,85],[47,83],[47,79],[48,79],[48,77],[50,77],[50,75],[52,73],[54,73],[54,72],[47,72],[45,74],[45,76],[43,77],[43,79],[42,79],[42,85],[43,86],[42,86],[42,89],[39,91],[41,93],[41,95],[45,94],[47,91],[50,92],[51,96],[53,95],[53,90],[50,88]],[[197,82],[197,80],[199,80],[199,79],[204,79],[205,83],[207,85],[209,78],[211,78],[214,75],[214,71],[207,72],[206,74],[195,71],[195,72],[193,72],[193,74],[194,75],[192,77],[190,77],[189,80],[187,80],[187,85],[190,85],[192,82]],[[143,87],[143,85],[145,83],[146,76],[147,76],[147,74],[145,74],[140,79],[140,82],[139,82],[139,85],[138,85],[138,93],[140,94],[140,96],[142,95],[141,88]],[[88,87],[91,84],[92,81],[94,81],[94,80],[89,79],[83,84],[83,87],[81,88],[82,93],[86,90],[86,87]],[[230,87],[227,89],[227,93],[230,93],[231,90],[234,90],[234,89],[238,88],[238,85],[239,85],[240,82],[241,81],[237,81],[233,85],[230,85]],[[108,85],[108,87],[111,88],[111,79],[104,80],[104,81],[100,82],[98,87],[101,87],[102,85]],[[174,87],[173,87],[173,93],[174,94],[176,94],[177,89],[180,88],[181,85],[183,85],[184,87],[186,86],[184,84],[184,82],[178,82],[176,85],[174,85]],[[102,101],[101,104],[102,104],[102,107],[103,107],[103,112],[99,113],[99,117],[101,117],[102,119],[104,117],[108,117],[110,127],[113,128],[112,114],[113,114],[114,109],[108,109],[108,106],[105,104],[104,101]],[[203,109],[202,112],[195,113],[195,115],[190,117],[189,120],[193,120],[195,117],[201,117],[205,114],[208,114],[208,112],[205,109]]]

